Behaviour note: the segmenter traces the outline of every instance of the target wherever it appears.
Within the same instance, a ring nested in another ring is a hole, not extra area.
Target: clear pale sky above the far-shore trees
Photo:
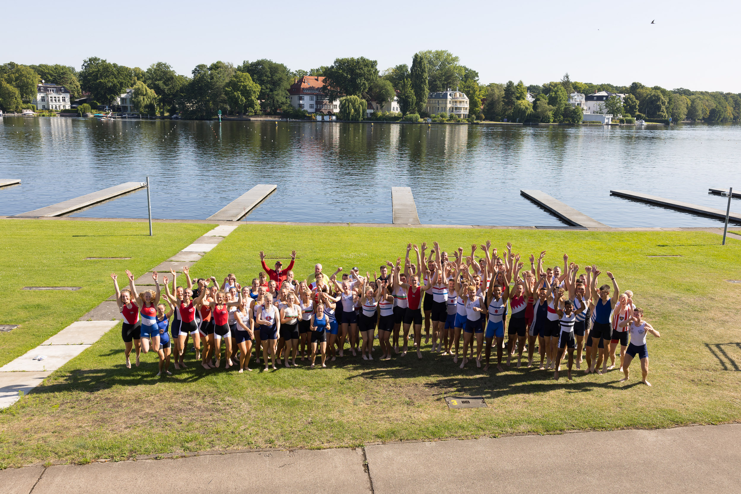
[[[98,56],[146,69],[271,59],[290,70],[365,56],[379,70],[419,50],[449,50],[479,82],[572,81],[741,93],[741,2],[387,1],[373,4],[67,0],[29,21],[28,5],[3,13],[0,63],[79,67]],[[655,20],[655,24],[651,21]],[[44,29],[47,21],[53,28]],[[10,42],[9,40],[16,40]]]

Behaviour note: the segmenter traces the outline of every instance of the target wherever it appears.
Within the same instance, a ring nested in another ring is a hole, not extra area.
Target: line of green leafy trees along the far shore
[[[82,62],[80,70],[64,65],[0,65],[0,107],[17,111],[31,107],[36,85],[43,79],[63,85],[72,99],[90,93],[91,104],[112,104],[127,88],[133,88],[133,104],[141,113],[180,113],[184,118],[209,119],[219,110],[225,114],[276,114],[302,118],[305,110],[294,109],[288,89],[302,76],[325,77],[325,95],[340,99],[341,118],[365,118],[368,101],[384,105],[398,96],[402,115],[429,116],[428,94],[456,87],[468,96],[469,116],[491,121],[574,122],[582,119],[581,108],[572,107],[571,93],[585,95],[607,90],[625,93],[625,99],[605,101],[602,113],[649,119],[682,121],[738,121],[741,94],[667,90],[646,87],[571,81],[568,73],[559,81],[525,86],[522,81],[505,84],[479,82],[479,73],[460,63],[448,50],[415,53],[411,65],[399,64],[379,70],[375,60],[335,59],[333,64],[311,70],[290,70],[285,64],[268,59],[243,61],[234,66],[216,61],[199,64],[183,76],[162,61],[143,70],[125,67],[98,57]],[[535,96],[532,103],[527,93]]]

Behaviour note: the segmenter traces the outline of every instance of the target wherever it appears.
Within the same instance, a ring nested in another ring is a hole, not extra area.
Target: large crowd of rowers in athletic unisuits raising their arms
[[[581,370],[585,364],[585,373],[597,374],[619,365],[627,381],[638,355],[642,382],[651,385],[646,335],[659,332],[643,319],[633,293],[620,293],[610,271],[605,272],[610,283],[599,285],[602,270],[596,265],[579,273],[579,265],[564,254],[562,267],[545,267],[545,250],[530,255],[530,267],[523,269],[525,258],[513,253],[510,243],[501,256],[491,241],[471,245],[470,255],[459,247],[448,256],[437,242],[429,253],[427,248],[425,242],[408,244],[403,258],[386,261],[373,276],[369,271],[362,276],[358,267],[349,272],[338,267],[327,275],[316,264],[310,276],[299,279],[293,273],[295,250],[285,269],[282,261],[268,267],[261,251],[264,271],[244,286],[232,273],[219,284],[214,276],[191,278],[183,267],[185,286],[178,286],[178,273],[170,270],[162,285],[153,273],[154,290],[139,292],[129,271],[124,290],[111,274],[124,319],[126,366],[131,367],[132,350],[136,366],[140,353],[153,350],[159,355],[157,375],[170,375],[170,361],[176,370],[193,364],[185,361],[189,341],[205,369],[221,367],[223,360],[226,369],[239,373],[250,370],[253,350],[265,370],[299,362],[313,368],[317,358],[328,367],[350,353],[365,361],[404,358],[412,347],[422,359],[424,327],[431,352],[451,357],[461,369],[475,361],[489,370],[496,350],[500,372],[516,358],[516,367],[553,370],[558,379],[566,360],[570,380],[574,365]]]

